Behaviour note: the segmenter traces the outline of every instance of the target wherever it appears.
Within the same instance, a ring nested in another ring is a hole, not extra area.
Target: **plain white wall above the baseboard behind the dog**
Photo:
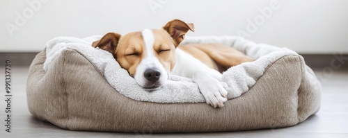
[[[242,34],[299,53],[348,53],[347,7],[347,0],[1,0],[0,52],[41,51],[57,36],[125,34],[182,19],[196,26],[188,35]]]

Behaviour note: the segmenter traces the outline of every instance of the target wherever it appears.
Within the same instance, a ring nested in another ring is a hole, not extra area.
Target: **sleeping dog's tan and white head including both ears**
[[[174,19],[161,29],[145,29],[122,36],[107,33],[92,45],[112,53],[141,87],[155,90],[168,80],[176,62],[175,49],[189,30],[194,31],[193,24]]]

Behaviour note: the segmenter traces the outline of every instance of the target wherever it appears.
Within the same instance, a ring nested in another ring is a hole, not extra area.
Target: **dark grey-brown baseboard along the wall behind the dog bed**
[[[0,67],[5,65],[5,60],[10,60],[13,66],[29,67],[35,55],[38,53],[0,53]],[[348,54],[342,55],[324,55],[324,54],[301,54],[308,64],[312,68],[340,68],[348,69]],[[3,64],[1,64],[3,62]]]

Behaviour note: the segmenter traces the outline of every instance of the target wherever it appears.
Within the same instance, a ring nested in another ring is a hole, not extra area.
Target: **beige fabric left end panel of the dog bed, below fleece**
[[[29,69],[26,84],[26,96],[29,112],[39,119],[66,128],[68,121],[68,101],[63,80],[64,57],[68,51],[63,51],[54,60],[54,70],[45,72],[43,63],[46,59],[45,50],[35,56]],[[64,91],[61,91],[64,89]]]

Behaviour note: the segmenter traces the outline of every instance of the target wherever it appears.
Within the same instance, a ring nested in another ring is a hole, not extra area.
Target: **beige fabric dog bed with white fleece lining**
[[[294,126],[319,110],[321,86],[301,55],[241,37],[187,37],[182,44],[221,43],[255,58],[223,73],[222,108],[205,103],[189,78],[171,76],[155,92],[136,85],[101,36],[56,37],[29,69],[31,114],[68,130],[218,132]]]

